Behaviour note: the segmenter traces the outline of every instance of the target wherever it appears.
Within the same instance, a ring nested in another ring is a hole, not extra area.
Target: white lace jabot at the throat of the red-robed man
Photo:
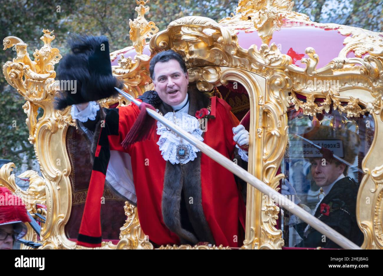
[[[184,131],[189,132],[198,140],[203,141],[201,136],[202,130],[199,127],[200,122],[198,122],[197,118],[184,112],[168,112],[164,117],[169,121],[175,122],[177,126],[181,127]],[[189,161],[193,161],[197,157],[196,152],[200,151],[188,141],[167,129],[161,122],[157,122],[157,134],[160,135],[157,145],[159,145],[161,155],[165,161],[169,161],[172,164],[185,164]],[[188,152],[188,157],[185,160],[180,160],[177,156],[177,147],[180,146],[185,148],[185,151]]]

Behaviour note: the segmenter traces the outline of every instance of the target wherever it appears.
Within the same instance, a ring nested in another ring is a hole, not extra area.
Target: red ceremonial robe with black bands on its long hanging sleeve
[[[211,98],[211,115],[215,118],[208,120],[203,142],[232,159],[235,149],[232,127],[237,126],[239,121],[230,109],[226,101]],[[133,103],[106,115],[95,153],[77,242],[79,245],[101,245],[100,198],[108,166],[104,160],[109,160],[109,150],[126,152],[131,156],[138,217],[145,235],[158,245],[180,244],[180,238],[167,228],[162,216],[166,161],[156,144],[160,136],[154,131],[149,140],[136,142],[127,149],[121,145],[138,115],[139,108]],[[203,212],[216,245],[239,247],[246,214],[241,193],[234,175],[205,154],[201,154],[201,196]]]

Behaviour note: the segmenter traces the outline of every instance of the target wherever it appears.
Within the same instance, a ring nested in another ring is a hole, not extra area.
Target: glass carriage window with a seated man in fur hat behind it
[[[307,212],[362,245],[356,199],[363,177],[361,163],[374,135],[372,116],[347,118],[330,110],[317,117],[288,113],[288,147],[281,164],[286,178],[281,193]],[[340,248],[298,217],[281,208],[285,247]]]

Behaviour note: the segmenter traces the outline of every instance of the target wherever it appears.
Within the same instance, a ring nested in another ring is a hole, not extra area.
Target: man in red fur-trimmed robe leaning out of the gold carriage
[[[230,106],[222,99],[188,88],[185,63],[172,50],[152,58],[150,73],[155,91],[146,91],[139,100],[233,159],[236,151],[233,127],[239,121]],[[116,191],[137,204],[139,222],[151,242],[157,245],[208,242],[239,247],[246,212],[234,175],[159,122],[157,132],[142,129],[149,131],[147,139],[126,143],[139,115],[140,109],[133,103],[103,110],[95,102],[72,106],[72,117],[80,127],[86,127],[97,137],[77,243],[100,246],[100,198],[107,179]],[[195,125],[196,115],[207,119],[205,132],[199,124]],[[235,129],[234,134],[236,140],[240,137],[240,145],[248,145],[246,130]],[[242,151],[241,155],[244,154]]]

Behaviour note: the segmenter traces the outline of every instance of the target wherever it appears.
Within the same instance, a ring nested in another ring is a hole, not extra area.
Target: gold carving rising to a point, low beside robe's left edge
[[[149,237],[142,232],[138,221],[137,207],[125,202],[125,215],[127,217],[125,224],[120,228],[120,241],[117,249],[153,249],[149,242]]]

